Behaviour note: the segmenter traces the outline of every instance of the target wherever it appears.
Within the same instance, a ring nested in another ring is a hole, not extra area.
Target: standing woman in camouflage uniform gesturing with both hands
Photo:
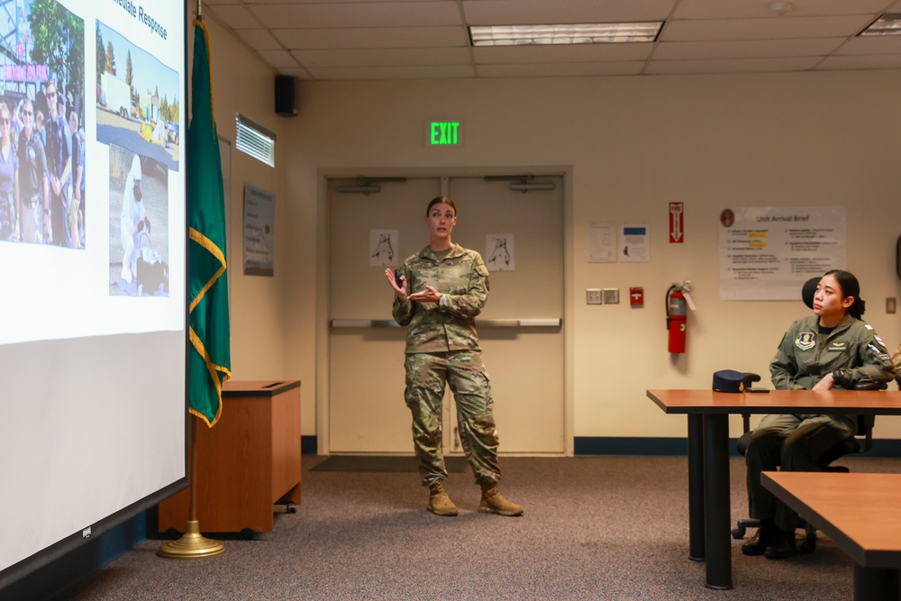
[[[444,480],[441,454],[441,398],[450,385],[460,422],[460,442],[482,488],[478,511],[522,515],[523,507],[497,490],[497,433],[494,401],[478,347],[475,317],[488,296],[488,270],[475,250],[451,242],[457,207],[446,196],[425,212],[429,245],[405,260],[399,278],[385,277],[395,291],[392,314],[407,326],[405,401],[413,414],[413,440],[423,486],[436,515],[456,515]]]

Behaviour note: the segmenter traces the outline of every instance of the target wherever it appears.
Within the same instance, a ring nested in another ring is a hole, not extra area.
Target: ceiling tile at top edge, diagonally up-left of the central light
[[[249,5],[267,27],[413,27],[459,25],[460,10],[449,2],[373,2],[305,5]]]

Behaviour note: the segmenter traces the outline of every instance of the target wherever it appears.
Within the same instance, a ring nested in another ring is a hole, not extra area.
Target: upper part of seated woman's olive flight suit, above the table
[[[817,332],[818,319],[811,315],[788,328],[769,365],[773,386],[809,390],[835,369],[846,370],[846,386],[890,382],[895,377],[892,359],[873,326],[846,314],[823,336]]]

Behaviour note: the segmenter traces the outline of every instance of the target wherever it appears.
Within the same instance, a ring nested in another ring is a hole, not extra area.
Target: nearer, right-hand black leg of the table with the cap
[[[732,588],[729,415],[704,416],[704,508],[708,588]]]

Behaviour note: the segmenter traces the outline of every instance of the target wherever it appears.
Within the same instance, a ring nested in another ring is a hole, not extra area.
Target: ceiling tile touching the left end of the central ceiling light
[[[291,50],[469,46],[469,37],[460,26],[274,29],[272,33],[278,41]]]

